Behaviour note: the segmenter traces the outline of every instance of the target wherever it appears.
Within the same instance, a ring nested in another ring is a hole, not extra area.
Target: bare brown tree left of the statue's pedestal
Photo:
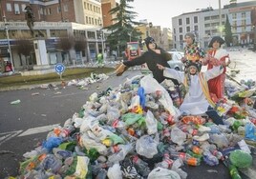
[[[15,38],[15,49],[19,55],[20,65],[23,66],[21,55],[24,55],[26,63],[25,68],[28,69],[28,66],[32,64],[32,61],[30,62],[31,58],[29,58],[33,50],[33,43],[30,39],[31,35],[26,32],[18,32],[16,33]]]

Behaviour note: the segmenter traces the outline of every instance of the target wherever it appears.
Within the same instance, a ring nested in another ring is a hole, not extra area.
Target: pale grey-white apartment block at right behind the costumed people
[[[233,45],[252,43],[255,37],[251,23],[251,10],[255,7],[256,1],[233,2],[225,5],[221,11],[208,7],[173,17],[173,46],[175,49],[183,50],[184,35],[186,32],[192,31],[196,35],[196,41],[206,49],[212,36],[221,35],[224,37],[226,16],[232,27]]]

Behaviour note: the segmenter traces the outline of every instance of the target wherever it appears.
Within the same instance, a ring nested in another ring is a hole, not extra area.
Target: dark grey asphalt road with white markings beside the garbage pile
[[[0,92],[0,179],[16,176],[18,163],[23,159],[22,155],[45,140],[48,130],[52,129],[53,125],[63,126],[67,119],[81,109],[93,92],[117,87],[126,78],[137,74],[139,71],[132,70],[126,71],[120,77],[110,76],[105,81],[88,86],[86,90],[77,87],[65,89],[59,87],[59,89],[37,88]],[[32,95],[33,93],[39,94]],[[19,104],[10,104],[17,99],[21,101]],[[182,169],[188,173],[187,179],[230,178],[223,164],[217,167],[202,164],[200,167]]]

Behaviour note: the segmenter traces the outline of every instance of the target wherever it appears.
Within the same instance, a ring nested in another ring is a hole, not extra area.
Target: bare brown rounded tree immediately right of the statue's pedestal
[[[75,39],[72,34],[68,34],[67,36],[61,36],[58,39],[57,47],[60,50],[63,50],[62,53],[62,61],[72,64],[72,60],[70,57],[70,50],[74,47]],[[68,60],[67,60],[68,58]]]

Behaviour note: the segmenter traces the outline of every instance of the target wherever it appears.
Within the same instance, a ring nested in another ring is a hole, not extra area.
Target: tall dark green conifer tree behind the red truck
[[[116,23],[104,28],[111,32],[107,36],[111,50],[117,49],[123,51],[126,48],[127,41],[130,41],[130,35],[136,41],[139,40],[139,36],[141,35],[141,32],[134,28],[134,26],[140,23],[134,21],[137,12],[130,10],[133,7],[128,5],[129,2],[134,2],[134,0],[120,0],[116,8],[109,10],[110,14],[116,14],[116,18],[112,19]],[[117,51],[117,54],[119,54],[119,51]]]

